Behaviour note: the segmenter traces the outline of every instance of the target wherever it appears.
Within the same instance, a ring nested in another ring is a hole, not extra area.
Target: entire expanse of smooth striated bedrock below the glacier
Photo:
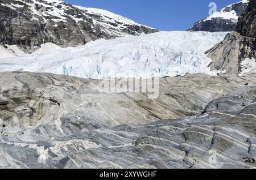
[[[255,75],[162,78],[155,100],[99,93],[100,80],[0,76],[2,168],[255,167]]]

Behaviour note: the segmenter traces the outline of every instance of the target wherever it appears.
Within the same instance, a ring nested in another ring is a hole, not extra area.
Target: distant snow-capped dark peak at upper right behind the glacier
[[[233,3],[195,23],[188,31],[224,32],[236,30],[238,17],[245,12],[249,0]]]

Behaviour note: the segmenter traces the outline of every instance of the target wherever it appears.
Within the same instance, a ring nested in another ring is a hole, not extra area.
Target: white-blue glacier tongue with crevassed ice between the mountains
[[[224,40],[228,32],[158,32],[97,40],[77,48],[52,44],[35,54],[0,57],[0,72],[50,72],[81,78],[150,78],[189,73],[214,75],[204,52]],[[2,54],[2,49],[0,49]]]

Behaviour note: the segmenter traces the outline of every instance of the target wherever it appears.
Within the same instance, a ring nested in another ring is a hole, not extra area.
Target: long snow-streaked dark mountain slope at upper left
[[[67,47],[158,31],[109,11],[59,0],[0,0],[0,17],[0,43],[27,51],[46,42]]]

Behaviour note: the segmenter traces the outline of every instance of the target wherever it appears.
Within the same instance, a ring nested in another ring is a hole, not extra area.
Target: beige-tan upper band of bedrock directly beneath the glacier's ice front
[[[1,73],[0,118],[6,126],[26,128],[76,112],[105,125],[142,124],[195,115],[209,101],[246,83],[253,85],[256,78],[203,74],[162,78],[159,97],[152,100],[146,93],[100,93],[100,83],[64,75]]]

